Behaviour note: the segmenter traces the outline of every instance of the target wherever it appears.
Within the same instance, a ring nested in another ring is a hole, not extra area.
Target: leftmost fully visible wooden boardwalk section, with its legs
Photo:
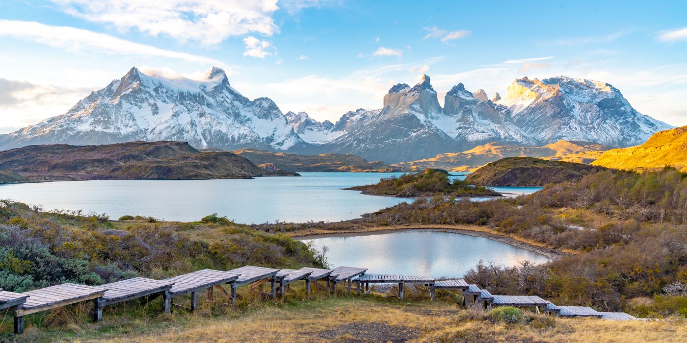
[[[47,311],[56,307],[63,307],[74,303],[81,303],[86,300],[94,300],[98,306],[105,289],[77,285],[76,283],[64,283],[41,289],[35,289],[22,294],[29,296],[23,303],[21,309],[14,310],[14,333],[24,331],[24,316],[35,314],[36,312]],[[97,311],[95,311],[97,319]]]

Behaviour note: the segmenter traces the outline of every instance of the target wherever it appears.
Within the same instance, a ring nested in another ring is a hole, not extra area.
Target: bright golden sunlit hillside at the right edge
[[[671,166],[687,172],[687,126],[656,132],[636,147],[604,152],[592,165],[636,171]]]

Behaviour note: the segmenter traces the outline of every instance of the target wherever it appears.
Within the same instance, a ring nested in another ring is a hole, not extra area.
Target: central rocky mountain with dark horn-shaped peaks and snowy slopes
[[[508,108],[491,102],[481,89],[471,93],[458,84],[447,93],[442,108],[427,75],[412,88],[390,88],[383,110],[374,118],[329,143],[328,150],[394,163],[490,142],[539,143],[515,125]]]

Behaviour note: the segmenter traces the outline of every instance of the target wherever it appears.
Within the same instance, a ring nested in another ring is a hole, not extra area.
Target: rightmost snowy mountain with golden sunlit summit
[[[626,147],[673,128],[639,113],[610,84],[566,76],[517,79],[497,104],[507,106],[515,123],[544,144],[565,139]]]

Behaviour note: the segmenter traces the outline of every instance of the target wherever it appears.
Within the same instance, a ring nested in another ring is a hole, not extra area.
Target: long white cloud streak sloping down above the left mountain
[[[104,54],[172,58],[202,64],[223,65],[221,61],[185,52],[159,49],[150,45],[133,43],[108,34],[69,26],[53,26],[35,21],[10,21],[0,19],[0,36],[10,36],[43,43],[67,51],[95,51]]]

